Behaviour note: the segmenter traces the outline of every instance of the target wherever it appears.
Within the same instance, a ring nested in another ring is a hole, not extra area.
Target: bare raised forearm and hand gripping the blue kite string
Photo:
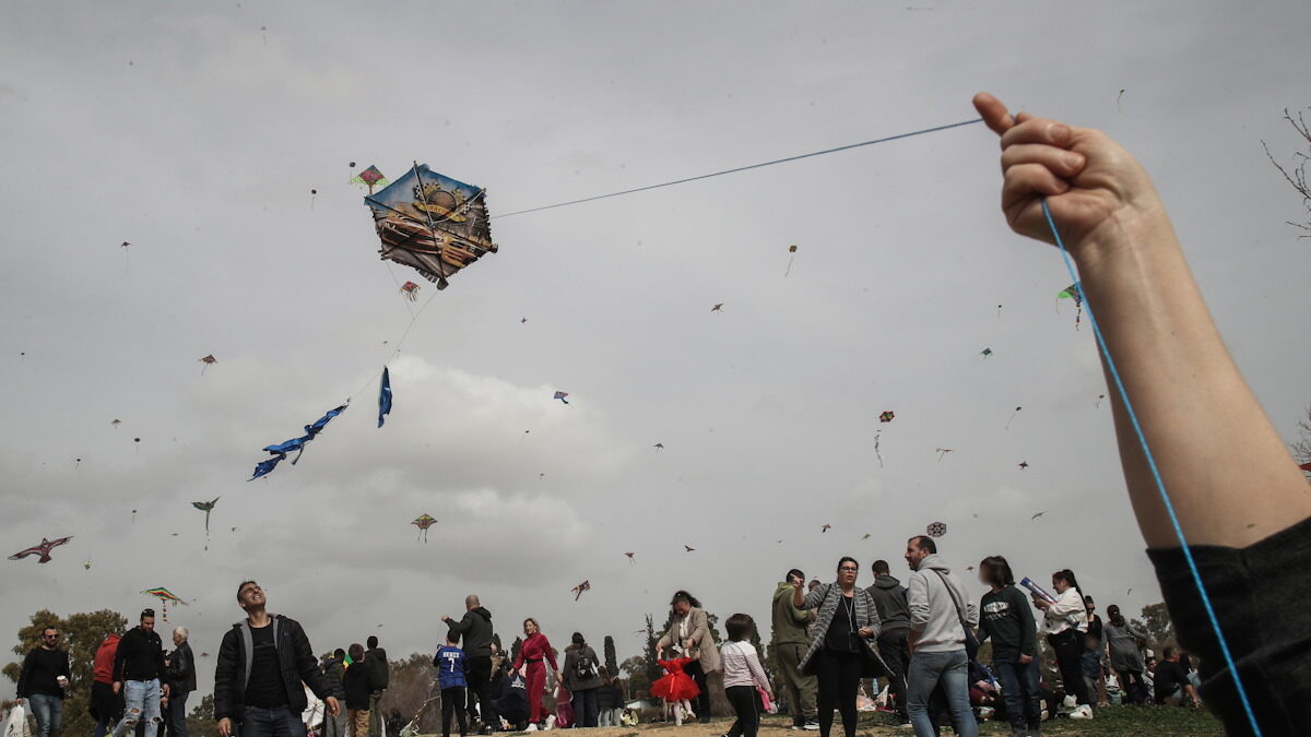
[[[1311,515],[1311,492],[1202,302],[1143,168],[1104,134],[974,106],[1002,138],[1002,210],[1046,243],[1051,216],[1179,510],[1189,544],[1245,547]],[[1177,547],[1118,392],[1108,392],[1147,546]]]

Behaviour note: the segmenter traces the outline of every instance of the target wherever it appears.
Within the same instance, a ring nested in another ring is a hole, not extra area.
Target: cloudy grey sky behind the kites
[[[75,536],[5,561],[0,632],[135,620],[166,586],[169,626],[216,653],[256,578],[320,652],[429,652],[476,593],[507,641],[535,616],[623,658],[676,589],[767,620],[793,567],[905,578],[931,522],[953,567],[1000,553],[1103,607],[1159,601],[1087,316],[1055,299],[1057,253],[1007,229],[983,126],[497,219],[499,252],[440,294],[379,260],[347,184],[370,164],[484,186],[494,215],[969,121],[991,90],[1133,151],[1289,441],[1311,400],[1311,244],[1261,148],[1298,149],[1306,3],[0,16],[0,518],[14,551]],[[207,538],[191,502],[215,497]]]

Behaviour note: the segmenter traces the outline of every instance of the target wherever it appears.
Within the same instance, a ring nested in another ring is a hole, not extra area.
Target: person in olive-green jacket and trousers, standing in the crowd
[[[801,658],[810,647],[810,624],[815,618],[815,612],[805,607],[805,585],[806,574],[793,568],[787,581],[773,590],[773,639],[770,649],[777,653],[779,692],[785,694],[792,729],[815,732],[819,729],[815,678],[801,673]]]

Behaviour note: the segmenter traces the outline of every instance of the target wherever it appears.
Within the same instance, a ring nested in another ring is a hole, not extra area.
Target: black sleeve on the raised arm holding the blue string
[[[1247,548],[1194,546],[1197,569],[1228,643],[1252,711],[1266,734],[1311,724],[1311,518]],[[1228,734],[1251,734],[1184,553],[1147,551],[1183,648],[1198,656],[1202,700]]]

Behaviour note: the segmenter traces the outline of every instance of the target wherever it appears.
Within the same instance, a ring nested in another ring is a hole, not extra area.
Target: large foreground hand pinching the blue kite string
[[[1109,241],[1122,226],[1164,216],[1147,172],[1101,131],[1028,113],[1012,117],[986,92],[974,96],[974,108],[1002,138],[1002,211],[1015,232],[1054,243],[1044,197],[1075,256],[1084,244]]]

